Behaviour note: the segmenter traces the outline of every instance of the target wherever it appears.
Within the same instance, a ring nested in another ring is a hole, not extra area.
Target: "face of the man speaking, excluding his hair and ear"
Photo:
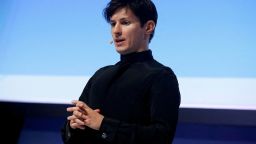
[[[120,54],[141,52],[148,48],[145,27],[129,8],[118,9],[110,19],[116,51]]]

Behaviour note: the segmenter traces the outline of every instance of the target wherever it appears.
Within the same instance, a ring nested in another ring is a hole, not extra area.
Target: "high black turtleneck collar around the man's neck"
[[[153,55],[152,55],[152,51],[149,49],[142,52],[133,52],[133,53],[121,55],[120,59],[122,63],[142,62],[142,61],[153,60]]]

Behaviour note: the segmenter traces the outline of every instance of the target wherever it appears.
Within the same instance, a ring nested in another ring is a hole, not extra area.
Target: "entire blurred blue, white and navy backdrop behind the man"
[[[153,2],[150,49],[181,91],[174,144],[256,143],[256,1]],[[102,15],[107,3],[0,0],[3,139],[61,143],[66,107],[97,69],[119,60]]]

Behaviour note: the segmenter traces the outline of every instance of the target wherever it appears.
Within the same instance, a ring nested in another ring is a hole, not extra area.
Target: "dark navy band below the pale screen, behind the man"
[[[0,102],[1,140],[59,144],[65,104]],[[255,144],[256,111],[181,108],[173,144]]]

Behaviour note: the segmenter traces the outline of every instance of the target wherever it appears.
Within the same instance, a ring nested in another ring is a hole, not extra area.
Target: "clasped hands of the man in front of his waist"
[[[72,101],[72,104],[74,106],[67,108],[67,111],[72,113],[67,117],[71,128],[85,129],[90,127],[94,130],[100,129],[104,116],[100,114],[99,109],[93,110],[87,104],[78,100]]]

